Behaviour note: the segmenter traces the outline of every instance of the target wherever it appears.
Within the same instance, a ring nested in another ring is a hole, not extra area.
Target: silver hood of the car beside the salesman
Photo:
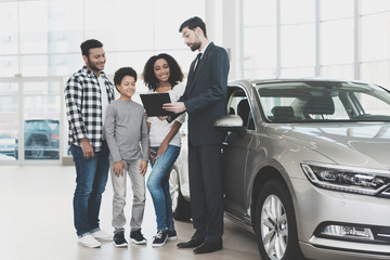
[[[390,169],[390,123],[295,123],[270,131],[339,165]]]

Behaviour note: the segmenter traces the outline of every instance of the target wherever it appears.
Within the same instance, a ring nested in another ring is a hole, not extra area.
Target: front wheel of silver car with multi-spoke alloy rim
[[[298,243],[296,217],[287,187],[268,181],[256,204],[256,234],[261,259],[304,259]]]

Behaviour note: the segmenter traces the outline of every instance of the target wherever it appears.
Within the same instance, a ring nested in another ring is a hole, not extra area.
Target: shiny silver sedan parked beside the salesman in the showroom
[[[389,91],[238,80],[227,109],[225,212],[253,227],[262,260],[390,259]]]

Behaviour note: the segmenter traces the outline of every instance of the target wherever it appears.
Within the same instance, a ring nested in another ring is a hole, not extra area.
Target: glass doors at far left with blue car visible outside
[[[0,81],[0,165],[61,164],[63,78]]]

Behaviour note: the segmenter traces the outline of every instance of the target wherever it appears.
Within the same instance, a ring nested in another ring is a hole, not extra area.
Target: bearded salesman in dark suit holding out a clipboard
[[[164,108],[188,114],[188,168],[191,208],[195,233],[179,248],[195,248],[195,253],[222,249],[223,200],[221,172],[222,131],[213,127],[226,114],[229,56],[208,40],[199,17],[185,21],[179,31],[192,51],[198,51],[191,64],[183,96]]]

